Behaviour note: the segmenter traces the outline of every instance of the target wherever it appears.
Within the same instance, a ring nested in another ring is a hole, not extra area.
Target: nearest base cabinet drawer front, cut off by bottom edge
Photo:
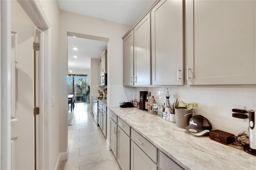
[[[158,150],[158,163],[161,170],[184,170],[171,158],[166,156],[163,152]]]

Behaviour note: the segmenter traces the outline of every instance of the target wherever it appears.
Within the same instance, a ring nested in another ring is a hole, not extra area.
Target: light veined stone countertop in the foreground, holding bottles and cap
[[[194,136],[163,117],[137,108],[109,109],[186,170],[256,170],[256,156],[231,144]]]

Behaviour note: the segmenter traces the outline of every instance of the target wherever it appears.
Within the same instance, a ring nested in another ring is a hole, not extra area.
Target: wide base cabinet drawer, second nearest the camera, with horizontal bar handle
[[[131,130],[131,139],[136,143],[154,162],[157,162],[157,148],[148,142],[134,129]]]

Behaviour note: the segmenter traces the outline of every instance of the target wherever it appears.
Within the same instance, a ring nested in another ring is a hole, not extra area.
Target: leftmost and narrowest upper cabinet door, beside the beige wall
[[[123,39],[123,85],[134,85],[133,30]]]

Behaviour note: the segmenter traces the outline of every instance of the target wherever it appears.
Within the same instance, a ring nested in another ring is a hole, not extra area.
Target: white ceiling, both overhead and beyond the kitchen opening
[[[154,1],[58,0],[58,4],[60,10],[132,26]],[[73,47],[78,50],[73,50]],[[90,69],[90,58],[99,59],[106,47],[106,42],[68,37],[68,68]]]

